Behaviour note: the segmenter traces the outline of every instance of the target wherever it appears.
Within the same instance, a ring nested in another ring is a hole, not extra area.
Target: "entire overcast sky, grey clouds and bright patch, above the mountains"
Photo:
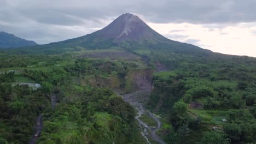
[[[79,37],[138,15],[172,40],[256,57],[255,0],[0,0],[0,31],[38,44]]]

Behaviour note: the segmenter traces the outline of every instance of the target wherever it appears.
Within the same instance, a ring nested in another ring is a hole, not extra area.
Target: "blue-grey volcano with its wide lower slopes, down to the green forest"
[[[212,55],[212,51],[198,46],[170,40],[154,31],[138,16],[125,13],[108,26],[82,37],[50,43],[46,45],[27,46],[19,49],[24,53],[60,53],[79,51],[80,49],[108,49],[119,46],[127,51],[138,49],[164,50],[196,56]]]

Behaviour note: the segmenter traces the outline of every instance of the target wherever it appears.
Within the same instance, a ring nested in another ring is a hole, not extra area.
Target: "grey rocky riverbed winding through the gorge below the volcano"
[[[141,127],[142,125],[142,127],[144,128],[144,131],[142,131],[142,136],[147,140],[147,142],[151,144],[148,140],[148,137],[150,137],[151,139],[153,139],[158,143],[166,144],[166,142],[161,140],[161,138],[155,134],[155,132],[161,128],[161,122],[157,117],[153,115],[153,113],[144,109],[143,103],[145,103],[148,100],[149,93],[150,91],[138,91],[135,93],[125,94],[123,95],[123,98],[126,102],[130,103],[132,106],[136,108],[137,116],[135,118],[139,122],[139,127]],[[141,115],[146,112],[150,117],[154,119],[155,122],[158,123],[158,128],[152,129],[152,127],[149,127],[146,123],[144,123],[141,119],[139,119],[139,117],[141,117]]]

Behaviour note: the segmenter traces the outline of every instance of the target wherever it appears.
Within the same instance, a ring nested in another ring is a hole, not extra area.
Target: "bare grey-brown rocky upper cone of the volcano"
[[[125,13],[115,19],[100,31],[92,33],[97,36],[95,41],[113,40],[116,43],[123,41],[147,41],[148,43],[166,43],[169,39],[150,28],[138,16]]]

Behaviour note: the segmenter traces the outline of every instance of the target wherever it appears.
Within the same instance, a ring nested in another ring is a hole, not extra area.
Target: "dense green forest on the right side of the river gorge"
[[[148,103],[172,124],[160,132],[166,142],[256,142],[255,58],[152,57],[169,69],[154,75]]]

